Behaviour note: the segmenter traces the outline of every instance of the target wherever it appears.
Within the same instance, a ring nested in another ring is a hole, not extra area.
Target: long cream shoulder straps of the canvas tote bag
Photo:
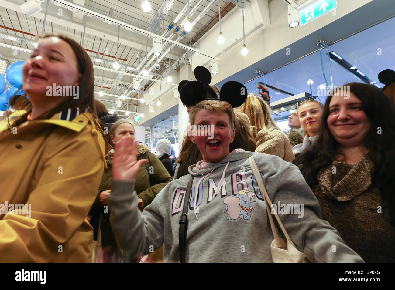
[[[274,236],[274,238],[276,240],[277,245],[281,245],[280,239],[278,238],[277,230],[276,230],[276,228],[274,226],[273,217],[272,217],[272,214],[271,214],[272,202],[271,202],[271,200],[269,198],[269,195],[267,194],[265,186],[263,185],[261,174],[259,172],[258,166],[256,165],[256,162],[255,162],[255,159],[254,159],[254,155],[252,155],[252,156],[250,156],[248,158],[248,162],[250,163],[251,170],[254,173],[256,182],[258,183],[259,191],[261,192],[261,194],[265,198],[266,211],[267,211],[267,215],[269,216],[269,221],[270,221],[270,226],[271,226],[271,229],[272,229],[272,232],[273,232],[273,236]],[[269,206],[269,204],[270,204],[270,206]],[[282,222],[280,220],[280,217],[278,216],[275,208],[273,208],[273,213],[274,213],[273,215],[276,217],[277,223],[280,226],[285,238],[287,239],[287,241],[291,245],[293,245],[293,247],[295,247],[295,245],[293,244],[292,239],[290,238],[290,236],[288,236],[288,233],[285,230],[284,225],[282,224]]]

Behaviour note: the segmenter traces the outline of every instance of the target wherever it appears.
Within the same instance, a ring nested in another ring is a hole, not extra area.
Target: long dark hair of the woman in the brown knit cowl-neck
[[[383,208],[389,208],[391,222],[395,225],[395,106],[386,95],[369,84],[352,82],[345,84],[362,102],[362,110],[371,123],[370,129],[363,138],[363,145],[369,150],[367,155],[374,164],[372,184],[380,190]],[[343,86],[343,87],[344,87]],[[340,145],[329,131],[327,119],[329,103],[333,93],[329,93],[322,111],[322,122],[318,129],[316,141],[296,156],[293,163],[298,165],[303,177],[311,189],[318,183],[317,176],[322,168],[333,163],[340,153]],[[378,134],[380,128],[383,134]]]

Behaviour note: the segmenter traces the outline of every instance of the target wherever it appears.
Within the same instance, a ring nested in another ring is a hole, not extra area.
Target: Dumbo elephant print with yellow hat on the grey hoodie
[[[226,196],[224,198],[224,204],[226,204],[224,213],[228,212],[227,219],[250,219],[251,215],[248,211],[254,210],[255,205],[258,204],[254,200],[254,195],[252,191],[243,189],[238,191],[237,195]]]

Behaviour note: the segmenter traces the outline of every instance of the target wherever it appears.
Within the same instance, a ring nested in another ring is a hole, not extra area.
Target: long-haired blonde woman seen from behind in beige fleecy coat
[[[276,155],[288,162],[295,159],[287,135],[276,126],[269,106],[260,97],[248,94],[245,103],[237,111],[246,114],[254,127],[255,152]]]

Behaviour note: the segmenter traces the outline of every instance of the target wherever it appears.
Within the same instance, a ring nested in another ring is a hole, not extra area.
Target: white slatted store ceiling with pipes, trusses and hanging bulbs
[[[43,29],[43,19],[47,2],[42,2],[42,11],[40,13],[36,13],[32,17],[28,17],[20,9],[24,0],[4,0],[3,2],[5,3],[4,7],[0,7],[0,44],[5,43],[14,47],[34,50],[35,37],[37,35],[41,37],[42,35],[41,31]],[[72,1],[68,2],[72,3]],[[83,6],[89,10],[106,16],[108,15],[108,17],[113,19],[126,22],[138,28],[173,40],[179,39],[183,28],[181,28],[176,35],[173,35],[172,33],[175,30],[175,27],[170,32],[167,32],[166,28],[168,27],[170,20],[173,20],[178,16],[180,20],[177,23],[180,24],[188,14],[188,0],[150,0],[149,2],[152,10],[149,13],[143,12],[141,9],[141,3],[143,0],[79,0],[74,2],[77,4],[82,2]],[[83,29],[73,29],[73,27],[75,28],[76,24],[78,24],[79,28],[83,28],[85,17],[82,17],[81,13],[78,14],[76,12],[69,11],[68,9],[62,9],[62,15],[58,16],[59,6],[56,6],[56,4],[58,4],[56,1],[49,1],[49,12],[45,21],[44,35],[63,34],[73,38],[79,43],[82,43],[83,39],[83,47],[87,49],[94,65],[112,69],[114,62],[118,58],[121,66],[119,71],[127,71],[128,73],[141,75],[146,63],[145,56],[147,37],[121,28],[119,34],[120,41],[119,45],[117,45],[118,26],[103,21],[98,22],[96,19],[90,17],[87,18],[87,32],[84,34]],[[196,43],[196,41],[198,41],[218,22],[218,4],[221,9],[221,17],[226,16],[226,14],[235,7],[235,4],[225,0],[189,0],[189,4],[190,19],[197,22],[194,24],[190,32],[179,39],[179,43],[191,47],[193,47],[194,43]],[[209,6],[211,8],[206,9]],[[181,13],[182,11],[184,12]],[[40,17],[38,17],[38,15],[40,15]],[[198,18],[199,15],[201,15],[200,18]],[[95,23],[98,24],[98,26],[95,27]],[[90,33],[88,33],[88,30]],[[124,43],[128,43],[128,45]],[[158,58],[160,69],[156,70],[153,68],[157,58],[154,58],[153,54],[148,54],[147,61],[149,65],[147,65],[147,68],[149,69],[152,67],[152,71],[150,71],[148,75],[150,78],[161,79],[161,77],[167,77],[169,74],[170,55],[169,53],[164,53],[168,50],[169,45],[166,43],[165,46],[165,43],[166,42],[163,42],[162,55]],[[152,38],[148,38],[149,52],[152,48],[152,44]],[[103,52],[106,48],[106,55],[104,55]],[[98,55],[97,52],[99,52],[100,55]],[[179,65],[183,63],[188,63],[188,55],[186,55],[186,52],[188,51],[177,46],[174,46],[171,49],[171,71],[177,70]],[[28,59],[29,54],[30,53],[28,52],[21,52],[20,59]],[[13,49],[0,46],[0,60],[5,60],[5,66],[17,61],[18,57],[19,55],[15,56],[15,53],[13,54]],[[154,60],[151,64],[150,59]],[[100,60],[101,62],[97,62],[96,60]],[[126,70],[127,67],[132,68],[133,70]],[[125,84],[126,86],[130,86],[132,84],[133,77],[124,76],[113,71],[104,71],[103,76],[102,69],[95,68],[94,70],[95,90],[96,92],[99,92],[102,89],[103,84],[104,93],[104,96],[102,97],[97,94],[95,94],[95,97],[103,101],[107,108],[115,108],[115,95],[122,95],[122,93],[125,92]],[[173,82],[175,81],[173,80]],[[146,90],[151,84],[152,81],[143,80],[140,84],[140,90],[132,92],[132,94],[129,92],[127,97],[141,98],[143,90]],[[122,101],[122,106],[117,109],[136,112],[137,103],[138,101],[136,100],[126,99]]]

